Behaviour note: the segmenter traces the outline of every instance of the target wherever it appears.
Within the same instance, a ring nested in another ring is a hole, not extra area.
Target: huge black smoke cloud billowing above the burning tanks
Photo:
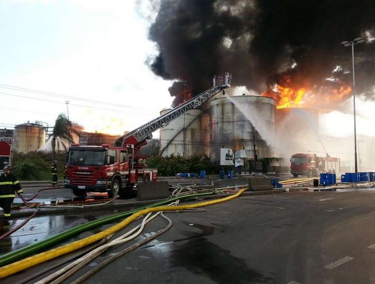
[[[366,43],[355,47],[357,92],[373,99],[374,15],[369,0],[161,0],[149,31],[159,48],[150,67],[164,79],[187,81],[169,89],[174,105],[183,100],[184,84],[196,95],[225,71],[233,85],[258,93],[285,78],[319,93],[351,85],[351,50],[340,43],[362,36]]]

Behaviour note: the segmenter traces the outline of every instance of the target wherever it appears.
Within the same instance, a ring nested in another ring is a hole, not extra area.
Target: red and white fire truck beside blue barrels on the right
[[[290,172],[295,178],[298,175],[316,177],[320,173],[339,173],[340,159],[318,157],[316,154],[294,154],[290,158]]]

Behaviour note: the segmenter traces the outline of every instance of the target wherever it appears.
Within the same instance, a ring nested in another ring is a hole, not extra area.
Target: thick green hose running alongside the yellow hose
[[[49,237],[49,238],[47,238],[43,241],[37,242],[35,244],[24,247],[22,249],[12,251],[12,252],[9,252],[7,254],[2,255],[0,257],[0,267],[3,267],[7,264],[15,262],[18,259],[25,258],[25,257],[27,257],[27,256],[29,256],[33,253],[39,252],[39,251],[41,251],[41,250],[43,250],[43,249],[45,249],[45,248],[47,248],[47,247],[49,247],[53,244],[56,244],[56,243],[66,239],[68,237],[71,237],[71,236],[74,236],[76,234],[82,233],[84,231],[87,231],[87,230],[89,230],[91,228],[94,228],[94,227],[97,227],[99,225],[103,225],[105,223],[109,223],[109,222],[121,219],[123,217],[132,215],[133,213],[141,211],[143,209],[160,206],[160,205],[167,204],[167,203],[171,203],[172,201],[175,201],[175,200],[181,200],[181,199],[185,199],[185,198],[198,197],[198,196],[207,196],[207,195],[212,195],[212,194],[215,194],[215,192],[197,193],[197,194],[189,194],[189,195],[174,197],[174,198],[166,199],[166,200],[163,200],[163,201],[155,202],[155,203],[152,203],[152,204],[149,204],[149,205],[145,205],[145,206],[139,207],[137,209],[125,211],[125,212],[122,212],[122,213],[117,213],[117,214],[114,214],[114,215],[110,215],[108,217],[100,218],[100,219],[97,219],[97,220],[94,220],[94,221],[87,222],[87,223],[82,224],[82,225],[78,225],[77,227],[66,230],[63,233],[51,236],[51,237]]]

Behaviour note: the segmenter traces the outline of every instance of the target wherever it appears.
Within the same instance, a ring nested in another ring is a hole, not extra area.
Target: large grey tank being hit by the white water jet
[[[245,149],[254,157],[272,156],[275,100],[261,96],[222,97],[210,102],[211,155],[219,161],[220,148]],[[254,126],[254,127],[253,127]]]

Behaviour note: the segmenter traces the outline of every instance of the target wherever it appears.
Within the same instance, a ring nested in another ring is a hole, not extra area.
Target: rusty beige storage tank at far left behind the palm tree
[[[36,151],[46,143],[46,129],[35,123],[18,124],[15,127],[14,138],[17,152]]]

